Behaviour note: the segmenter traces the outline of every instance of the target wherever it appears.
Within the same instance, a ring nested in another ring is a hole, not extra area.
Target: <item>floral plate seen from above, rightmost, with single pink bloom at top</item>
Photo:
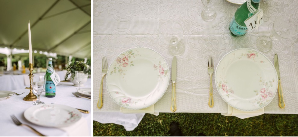
[[[229,105],[242,111],[267,106],[275,96],[278,77],[264,54],[248,48],[226,54],[216,67],[216,88]]]

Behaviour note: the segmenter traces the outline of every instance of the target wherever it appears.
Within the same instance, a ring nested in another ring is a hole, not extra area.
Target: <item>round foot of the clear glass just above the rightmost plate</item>
[[[259,51],[268,52],[272,49],[272,39],[269,36],[259,36],[256,40],[256,46]]]

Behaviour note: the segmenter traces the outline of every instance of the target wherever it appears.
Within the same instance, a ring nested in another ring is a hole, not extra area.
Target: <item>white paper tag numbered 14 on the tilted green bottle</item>
[[[256,14],[246,19],[244,23],[247,26],[247,30],[250,31],[254,28],[258,28],[264,22],[264,20],[262,20],[262,17],[263,10],[259,9]]]

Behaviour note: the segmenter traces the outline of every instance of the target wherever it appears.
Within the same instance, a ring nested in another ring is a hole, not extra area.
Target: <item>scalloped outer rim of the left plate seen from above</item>
[[[112,63],[109,65],[109,68],[108,68],[108,72],[107,72],[107,73],[109,73],[109,70],[110,70],[111,65],[113,64],[113,62],[116,61],[116,59],[117,59],[121,54],[123,54],[123,53],[126,52],[126,51],[133,50],[133,49],[136,49],[136,48],[147,48],[147,47],[134,47],[134,48],[129,48],[129,49],[127,49],[127,50],[121,52],[120,54],[118,54],[118,55],[113,59]],[[155,50],[152,49],[152,48],[147,48],[147,49],[152,50],[152,51],[154,51],[155,53],[157,53],[158,55],[160,55],[160,57],[164,60],[164,62],[165,62],[165,64],[166,64],[166,67],[167,67],[168,69],[170,69],[168,63],[166,62],[166,59],[165,59],[159,52],[155,51]],[[169,71],[169,73],[170,73],[170,71]],[[107,83],[107,80],[108,80],[108,77],[106,77],[106,83]],[[160,96],[160,98],[163,97],[163,95],[166,93],[166,91],[167,91],[167,89],[168,89],[169,82],[170,82],[170,76],[168,77],[167,80],[168,80],[168,83],[166,84],[165,91],[164,91],[163,94]],[[113,100],[116,104],[118,104],[118,103],[113,99],[113,97],[112,97],[112,95],[110,94],[110,92],[108,91],[108,84],[106,84],[106,87],[107,87],[107,92],[109,93],[109,95],[110,95],[110,97],[112,98],[112,100]],[[124,107],[124,108],[131,109],[131,110],[140,110],[140,109],[144,109],[144,108],[147,108],[147,107],[152,106],[152,105],[155,104],[157,101],[159,101],[160,98],[158,98],[154,103],[152,103],[152,104],[150,104],[150,105],[146,105],[145,107],[140,107],[140,108],[129,108],[129,107],[126,107],[126,106],[121,106],[120,104],[118,104],[118,105],[119,105],[120,107]]]

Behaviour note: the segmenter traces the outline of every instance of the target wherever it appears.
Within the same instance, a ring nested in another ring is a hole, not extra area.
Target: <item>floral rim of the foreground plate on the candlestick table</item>
[[[48,124],[45,124],[45,123],[39,123],[39,122],[36,122],[34,120],[31,120],[30,117],[32,117],[33,114],[31,114],[30,112],[32,112],[32,111],[34,111],[36,109],[39,109],[40,107],[42,107],[42,105],[48,105],[48,106],[54,106],[54,107],[64,107],[64,108],[66,107],[70,111],[74,111],[75,114],[78,114],[79,115],[78,116],[79,118],[77,118],[76,120],[72,121],[71,123],[62,124],[62,125],[48,125]],[[27,108],[24,111],[24,117],[29,122],[31,122],[33,124],[36,124],[36,125],[39,125],[39,126],[45,126],[45,127],[65,127],[65,126],[70,126],[70,125],[76,123],[77,121],[79,121],[82,118],[82,114],[76,108],[73,108],[73,107],[70,107],[70,106],[67,106],[67,105],[62,105],[62,104],[39,104],[39,105],[35,105],[35,106],[32,106],[32,107]]]

